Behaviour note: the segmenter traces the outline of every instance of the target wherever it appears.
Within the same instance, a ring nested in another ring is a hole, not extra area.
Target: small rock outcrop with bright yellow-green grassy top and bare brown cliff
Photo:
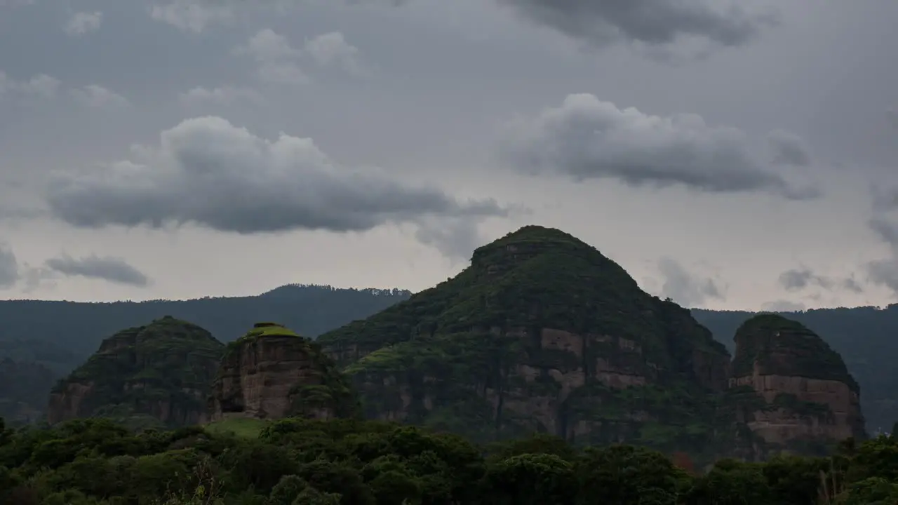
[[[257,323],[228,344],[209,401],[212,420],[316,419],[356,412],[355,397],[316,344],[275,323]]]

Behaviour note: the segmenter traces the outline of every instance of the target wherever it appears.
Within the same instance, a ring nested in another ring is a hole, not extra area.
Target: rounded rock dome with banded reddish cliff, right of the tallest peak
[[[730,386],[760,445],[753,456],[825,453],[832,442],[866,437],[858,383],[837,352],[801,323],[757,315],[735,334]]]

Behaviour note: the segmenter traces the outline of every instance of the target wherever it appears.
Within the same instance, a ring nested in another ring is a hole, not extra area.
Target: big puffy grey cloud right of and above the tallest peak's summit
[[[763,190],[788,199],[818,194],[773,172],[737,128],[709,126],[696,114],[665,118],[621,110],[586,93],[513,121],[502,152],[525,173],[562,173],[577,181],[612,178],[630,186]]]

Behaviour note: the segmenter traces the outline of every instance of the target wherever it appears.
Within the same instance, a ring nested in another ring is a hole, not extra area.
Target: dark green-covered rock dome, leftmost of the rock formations
[[[133,426],[205,421],[224,350],[206,330],[171,316],[118,332],[53,387],[48,421],[90,416]]]

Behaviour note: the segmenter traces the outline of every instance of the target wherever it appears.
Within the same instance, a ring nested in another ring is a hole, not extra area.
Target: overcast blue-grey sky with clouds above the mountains
[[[898,301],[898,3],[0,0],[0,298],[420,290],[525,225]]]

